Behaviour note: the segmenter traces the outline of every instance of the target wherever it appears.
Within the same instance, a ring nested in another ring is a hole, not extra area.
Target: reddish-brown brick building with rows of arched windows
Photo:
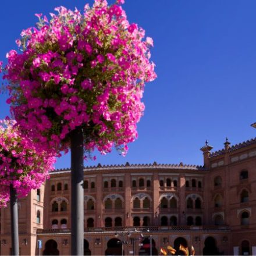
[[[179,244],[197,255],[256,255],[256,138],[212,152],[204,166],[84,168],[84,255],[150,255]],[[70,170],[19,200],[20,255],[70,254]],[[1,209],[10,255],[10,211]],[[37,240],[42,240],[39,252]]]

